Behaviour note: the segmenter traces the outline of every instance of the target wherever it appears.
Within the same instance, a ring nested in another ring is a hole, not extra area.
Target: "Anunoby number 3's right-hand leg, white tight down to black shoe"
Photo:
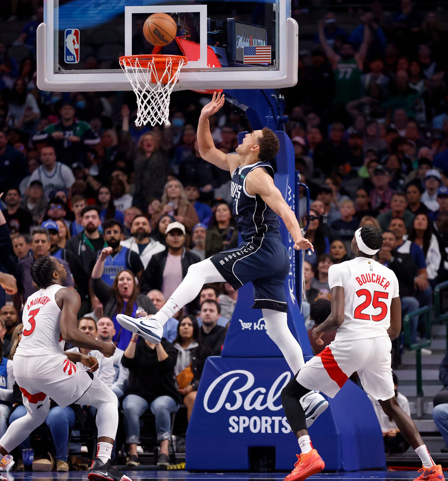
[[[98,444],[96,456],[87,477],[91,481],[119,481],[123,473],[112,466],[111,455],[118,427],[118,399],[112,390],[94,377],[86,392],[76,401],[76,404],[90,405],[97,408],[96,426]]]

